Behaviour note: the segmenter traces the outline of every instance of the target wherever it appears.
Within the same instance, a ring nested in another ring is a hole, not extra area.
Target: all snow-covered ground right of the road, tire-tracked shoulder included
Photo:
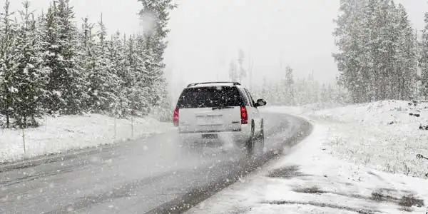
[[[428,156],[426,106],[270,107],[307,118],[313,133],[188,213],[425,213],[428,161],[416,155]]]

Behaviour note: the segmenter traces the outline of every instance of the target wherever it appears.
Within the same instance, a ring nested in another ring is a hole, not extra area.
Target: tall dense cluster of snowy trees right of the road
[[[402,4],[341,0],[333,54],[355,103],[417,95],[418,41]]]

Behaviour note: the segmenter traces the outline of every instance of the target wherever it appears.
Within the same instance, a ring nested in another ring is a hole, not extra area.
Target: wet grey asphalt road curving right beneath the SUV
[[[123,143],[66,161],[0,173],[0,213],[182,213],[275,157],[310,131],[300,118],[265,116],[265,154],[190,151],[176,133]]]

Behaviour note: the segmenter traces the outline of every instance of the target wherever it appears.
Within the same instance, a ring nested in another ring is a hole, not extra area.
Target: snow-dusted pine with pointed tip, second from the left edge
[[[21,23],[16,34],[16,71],[11,76],[14,84],[14,115],[21,128],[38,126],[36,118],[43,115],[42,98],[46,95],[44,87],[47,73],[42,66],[41,46],[36,32],[36,21],[30,10],[29,1],[24,1],[20,11]]]

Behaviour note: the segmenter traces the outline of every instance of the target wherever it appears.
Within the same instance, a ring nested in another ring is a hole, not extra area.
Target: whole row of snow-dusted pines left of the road
[[[103,113],[126,118],[169,108],[163,52],[171,0],[139,0],[152,31],[108,36],[102,15],[76,26],[68,0],[34,16],[29,1],[0,14],[0,115],[5,125],[37,126],[49,114]],[[98,30],[95,30],[98,29]]]

